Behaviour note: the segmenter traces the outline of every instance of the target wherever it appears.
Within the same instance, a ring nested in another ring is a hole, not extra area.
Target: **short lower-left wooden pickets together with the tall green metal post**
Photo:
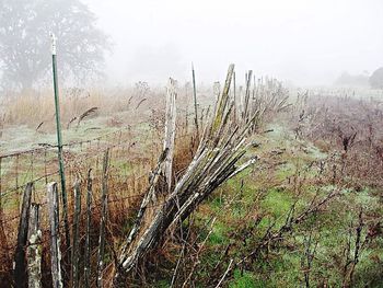
[[[60,252],[60,215],[59,215],[59,195],[58,185],[56,182],[47,183],[47,199],[48,199],[48,217],[50,227],[50,260],[51,260],[51,278],[53,287],[68,287],[68,283],[65,283],[70,277],[70,285],[72,287],[79,287],[80,285],[80,218],[81,218],[81,183],[79,180],[74,183],[74,199],[73,199],[73,224],[72,224],[72,239],[70,239],[70,229],[68,221],[68,199],[66,191],[66,177],[63,170],[62,158],[62,141],[61,141],[61,124],[60,124],[60,108],[59,108],[59,95],[58,95],[58,79],[57,79],[57,53],[56,53],[56,37],[51,34],[51,56],[53,56],[53,76],[54,76],[54,92],[55,92],[55,116],[58,140],[58,160],[59,160],[59,174],[61,184],[61,207],[63,221],[63,234],[66,240],[67,253],[63,255],[65,260],[61,263]],[[121,134],[119,134],[118,142],[121,141]],[[100,140],[98,140],[100,143]],[[82,145],[81,145],[82,150]],[[109,149],[105,151],[103,161],[103,174],[102,174],[102,189],[101,189],[101,205],[102,214],[100,221],[100,239],[97,251],[97,269],[96,269],[96,286],[103,286],[103,269],[104,269],[104,254],[105,254],[105,231],[107,219],[107,199],[108,199],[108,162],[109,162]],[[1,161],[1,158],[0,158]],[[46,151],[45,151],[46,161]],[[19,155],[16,155],[16,187],[19,187]],[[46,173],[46,163],[45,163]],[[1,162],[0,162],[0,180],[1,180]],[[18,243],[14,254],[14,285],[15,287],[42,287],[42,230],[40,230],[40,205],[32,203],[34,182],[26,184],[22,210],[18,230]],[[90,232],[91,232],[91,217],[92,217],[92,173],[89,170],[88,183],[86,183],[86,223],[85,223],[85,253],[84,253],[84,287],[91,285],[91,265],[90,265]],[[1,181],[0,181],[0,209],[1,209]],[[0,210],[1,212],[1,210]],[[62,274],[67,269],[62,270],[62,266],[70,267],[70,274]],[[28,279],[27,284],[26,280]]]

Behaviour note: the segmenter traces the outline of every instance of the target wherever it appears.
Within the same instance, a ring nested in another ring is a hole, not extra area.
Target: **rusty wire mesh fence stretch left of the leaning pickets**
[[[150,123],[151,124],[151,123]],[[185,128],[186,127],[186,128]],[[187,125],[178,127],[183,129],[179,139],[184,141],[185,137],[192,137],[188,134]],[[63,205],[61,195],[58,205],[58,234],[61,237],[61,255],[63,277],[66,280],[72,273],[70,267],[71,250],[73,249],[74,230],[80,226],[80,250],[85,250],[84,238],[91,237],[90,249],[93,254],[98,247],[97,238],[101,237],[101,222],[103,214],[102,206],[107,204],[107,227],[105,238],[107,239],[107,257],[106,262],[112,262],[109,255],[113,255],[114,239],[123,239],[126,237],[131,219],[136,215],[136,208],[146,193],[149,183],[150,169],[154,166],[156,158],[162,150],[162,126],[149,125],[148,130],[136,134],[136,129],[130,126],[123,127],[113,133],[102,135],[93,139],[82,141],[67,142],[62,146],[65,177],[67,182],[68,195],[68,222],[62,215]],[[144,127],[143,129],[147,129]],[[159,133],[161,130],[161,133]],[[189,139],[187,139],[189,140]],[[103,157],[105,151],[109,151],[109,165],[107,169],[108,178],[108,197],[103,201]],[[86,207],[86,181],[89,171],[92,170],[92,204]],[[32,204],[39,206],[39,230],[42,239],[39,245],[43,251],[42,277],[49,278],[51,266],[48,264],[51,253],[49,246],[51,233],[51,217],[49,209],[51,204],[47,200],[47,184],[56,182],[58,191],[61,191],[61,181],[59,173],[58,146],[43,143],[39,147],[7,154],[0,154],[0,286],[2,278],[12,277],[14,274],[15,251],[20,247],[20,227],[25,214],[22,214],[23,197],[30,183],[33,183]],[[80,182],[82,209],[80,212],[76,208],[76,196],[72,184]],[[61,193],[59,193],[61,194]],[[149,205],[151,206],[151,205]],[[159,207],[161,205],[152,205]],[[89,209],[90,208],[90,209]],[[85,231],[85,224],[89,210],[92,214],[92,224],[90,231]],[[80,221],[76,222],[79,218]],[[69,230],[70,243],[65,241]],[[22,244],[26,252],[33,246],[27,241]],[[94,256],[94,255],[93,255]],[[68,261],[69,258],[69,261]],[[83,255],[81,255],[81,264],[84,265]],[[92,261],[92,273],[95,274],[95,261]],[[81,267],[83,270],[84,268]],[[15,274],[14,274],[15,275]],[[81,276],[83,277],[83,276]],[[97,277],[92,277],[97,279]],[[93,280],[92,280],[93,281]],[[49,283],[49,280],[48,280]],[[67,284],[65,285],[66,287]],[[93,286],[93,285],[92,285]]]

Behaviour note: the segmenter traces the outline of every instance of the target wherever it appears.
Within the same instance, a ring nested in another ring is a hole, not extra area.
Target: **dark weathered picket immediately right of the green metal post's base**
[[[72,247],[72,287],[79,286],[80,272],[79,272],[79,239],[80,239],[80,214],[81,214],[81,191],[80,182],[77,180],[74,183],[74,215],[73,215],[73,247]]]

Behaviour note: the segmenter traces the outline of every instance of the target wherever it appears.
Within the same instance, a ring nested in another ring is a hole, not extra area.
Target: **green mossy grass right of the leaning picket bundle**
[[[297,199],[292,184],[287,184],[287,178],[294,176],[298,171],[301,171],[300,177],[302,178],[302,171],[305,171],[311,161],[323,160],[326,157],[312,143],[294,140],[291,133],[289,135],[289,131],[281,126],[277,126],[266,140],[267,145],[254,149],[252,153],[266,154],[272,149],[286,148],[286,151],[278,155],[279,160],[276,161],[287,163],[271,171],[272,181],[276,181],[277,184],[266,182],[265,185],[263,178],[270,175],[268,171],[260,170],[254,174],[248,170],[228,181],[206,203],[209,209],[202,209],[200,212],[206,219],[209,212],[219,212],[199,268],[205,270],[204,275],[209,275],[206,269],[214,266],[213,263],[217,262],[218,255],[229,243],[234,243],[234,247],[228,257],[234,261],[240,260],[252,251],[252,245],[257,243],[258,238],[274,221],[276,221],[275,229],[285,223],[287,214]],[[317,193],[317,199],[322,199],[336,188],[327,183],[324,183],[323,186],[315,186],[313,184],[315,182],[311,183],[310,181],[318,177],[315,169],[310,169],[304,173],[307,184],[303,185],[303,191],[298,197],[295,215],[302,211]],[[242,193],[239,194],[241,187]],[[265,189],[262,197],[257,196],[259,189]],[[237,199],[227,211],[220,212],[233,195],[237,195]],[[246,266],[243,273],[236,268],[229,278],[228,286],[233,288],[304,286],[303,264],[301,263],[305,253],[304,239],[310,231],[313,231],[313,239],[318,243],[310,273],[311,285],[316,287],[326,283],[329,287],[339,287],[343,281],[341,255],[347,243],[349,226],[351,222],[357,224],[360,208],[363,209],[367,219],[382,214],[380,193],[368,187],[361,192],[344,189],[341,196],[330,200],[323,211],[310,216],[304,222],[294,227],[291,234],[285,234],[281,242],[269,247],[269,253],[262,254],[262,257],[252,266]],[[200,214],[199,217],[201,217]],[[254,217],[247,217],[248,215],[262,215],[263,219],[257,226],[254,226]],[[243,233],[246,231],[252,231],[252,234],[248,234],[243,241]],[[379,266],[383,260],[382,243],[380,245],[367,247],[361,254],[356,270],[356,287],[363,287],[363,284],[369,281],[368,277],[371,278],[371,276],[363,276],[369,275],[369,272],[375,272],[372,274],[375,277],[379,275]],[[380,262],[376,262],[378,260]],[[371,278],[371,284],[373,284],[371,287],[381,287],[376,283],[378,280]]]

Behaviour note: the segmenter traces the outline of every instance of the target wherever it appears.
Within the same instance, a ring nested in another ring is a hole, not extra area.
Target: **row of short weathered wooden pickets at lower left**
[[[107,221],[107,199],[108,199],[108,166],[109,166],[109,149],[104,153],[102,189],[101,189],[101,221],[100,221],[100,238],[97,251],[97,269],[96,269],[96,286],[103,287],[103,269],[105,255],[105,232]],[[85,217],[85,247],[84,247],[84,265],[83,265],[83,287],[91,287],[91,220],[92,220],[92,171],[88,172],[86,180],[86,217]],[[72,218],[72,247],[70,251],[70,285],[69,279],[66,279],[62,274],[62,267],[67,263],[61,261],[60,251],[60,215],[59,215],[59,194],[56,182],[47,184],[47,204],[48,218],[50,230],[50,268],[53,287],[79,287],[80,286],[80,220],[81,220],[81,185],[80,181],[76,181],[73,186],[73,218]],[[15,287],[42,287],[42,229],[40,229],[40,205],[32,203],[33,182],[30,182],[24,189],[21,217],[18,231],[18,243],[14,253],[14,285]],[[61,199],[62,201],[62,199]],[[62,206],[62,203],[61,203]],[[63,221],[63,219],[61,219]],[[27,283],[26,283],[26,279]],[[82,286],[82,285],[81,285]]]

